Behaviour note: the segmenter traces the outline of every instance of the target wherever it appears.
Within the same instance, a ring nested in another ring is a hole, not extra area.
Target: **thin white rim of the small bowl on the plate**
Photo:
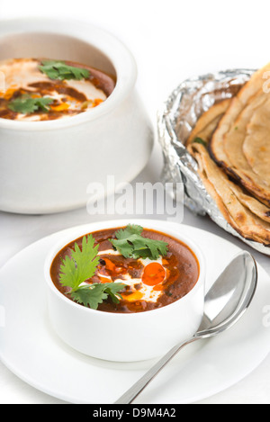
[[[156,225],[157,221],[157,225]],[[98,231],[100,229],[117,229],[121,227],[125,227],[128,224],[142,224],[144,229],[153,229],[157,230],[167,236],[170,236],[172,238],[176,238],[183,242],[187,247],[189,247],[193,255],[196,256],[198,263],[199,263],[199,277],[193,288],[187,292],[184,297],[178,299],[177,301],[174,301],[172,303],[169,303],[166,306],[162,306],[156,310],[148,310],[148,311],[142,311],[142,312],[131,312],[131,313],[117,313],[117,312],[106,312],[103,310],[92,310],[91,308],[87,308],[85,306],[80,305],[79,303],[76,303],[75,301],[71,301],[65,295],[58,291],[58,288],[55,286],[55,284],[52,282],[50,277],[50,265],[52,264],[52,261],[54,257],[58,254],[58,251],[61,250],[62,247],[65,247],[69,242],[72,242],[73,240],[76,240],[76,238],[80,238],[88,233],[93,233],[94,231]],[[113,318],[113,319],[141,319],[141,318],[151,318],[151,316],[156,315],[157,313],[165,313],[169,310],[173,310],[174,308],[178,308],[179,303],[184,303],[188,301],[194,294],[197,292],[201,286],[203,285],[203,297],[204,297],[204,291],[205,291],[205,275],[206,275],[206,267],[205,267],[205,258],[202,254],[201,247],[198,247],[196,243],[193,241],[193,239],[188,238],[187,236],[182,236],[178,233],[174,234],[173,229],[166,229],[162,230],[160,229],[160,224],[162,221],[160,220],[110,220],[110,221],[98,221],[93,222],[81,226],[76,226],[70,229],[67,229],[68,233],[63,235],[63,238],[58,240],[54,244],[53,247],[49,249],[49,252],[45,258],[44,262],[44,275],[45,275],[45,281],[47,286],[49,287],[50,292],[52,292],[60,301],[63,301],[67,304],[67,306],[70,306],[71,309],[75,309],[78,311],[81,311],[82,313],[86,312],[85,315],[90,315],[91,313],[95,316],[100,315],[101,317],[107,317],[107,318]],[[148,227],[147,227],[148,224]],[[179,227],[181,228],[181,225],[179,224]],[[90,230],[87,231],[87,228]],[[69,231],[70,230],[70,231]]]

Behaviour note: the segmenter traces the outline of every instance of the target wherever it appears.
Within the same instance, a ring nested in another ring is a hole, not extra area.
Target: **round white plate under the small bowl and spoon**
[[[139,220],[147,227],[148,220]],[[110,222],[108,222],[109,226]],[[201,229],[160,221],[202,247],[207,287],[239,248]],[[91,230],[91,225],[85,226]],[[24,382],[71,403],[111,404],[156,362],[119,364],[81,355],[66,346],[49,325],[43,264],[49,248],[67,229],[25,248],[0,272],[0,358]],[[253,371],[266,357],[270,328],[270,279],[258,265],[258,287],[247,313],[227,332],[186,346],[148,385],[136,403],[192,403],[223,391]],[[3,320],[4,319],[4,320]],[[1,321],[0,321],[1,322]],[[115,329],[117,337],[124,335]],[[134,403],[135,403],[134,402]]]

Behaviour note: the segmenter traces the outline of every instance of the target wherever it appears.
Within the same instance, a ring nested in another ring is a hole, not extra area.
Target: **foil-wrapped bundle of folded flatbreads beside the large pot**
[[[157,116],[163,182],[183,183],[186,207],[208,214],[222,229],[266,255],[270,255],[270,148],[264,144],[269,119],[263,77],[268,67],[187,79]]]

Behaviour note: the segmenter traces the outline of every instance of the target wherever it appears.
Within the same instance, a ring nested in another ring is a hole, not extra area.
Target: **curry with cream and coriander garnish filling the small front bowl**
[[[63,247],[50,266],[59,292],[94,310],[135,313],[183,298],[200,265],[183,242],[154,229],[103,229]]]

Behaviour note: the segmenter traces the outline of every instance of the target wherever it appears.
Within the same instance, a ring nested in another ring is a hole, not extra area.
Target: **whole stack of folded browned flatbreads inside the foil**
[[[270,93],[257,71],[232,99],[197,121],[186,147],[198,162],[207,192],[230,226],[270,245]],[[268,73],[268,78],[269,78]]]

